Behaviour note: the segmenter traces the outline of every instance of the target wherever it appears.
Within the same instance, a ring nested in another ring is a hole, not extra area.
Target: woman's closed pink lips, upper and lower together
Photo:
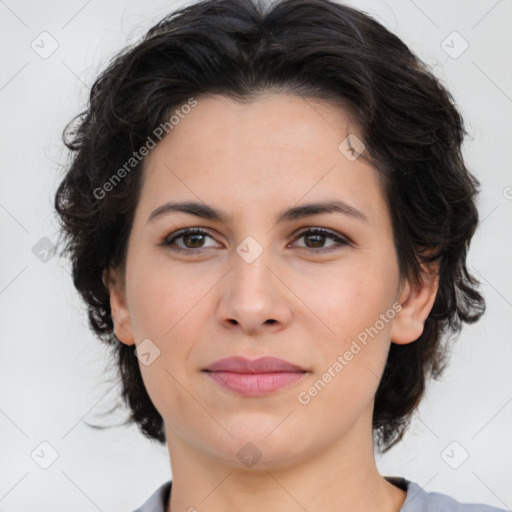
[[[203,370],[225,389],[244,396],[264,396],[290,386],[309,372],[277,357],[220,359]]]

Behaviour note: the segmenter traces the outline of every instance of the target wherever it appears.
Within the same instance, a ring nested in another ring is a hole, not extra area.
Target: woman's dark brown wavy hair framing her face
[[[103,187],[191,98],[243,102],[269,91],[347,105],[382,178],[400,276],[421,279],[432,265],[439,274],[423,333],[391,344],[376,392],[373,435],[385,452],[403,437],[428,379],[445,369],[448,340],[463,322],[480,318],[485,301],[466,266],[479,182],[461,154],[462,116],[426,64],[368,15],[330,0],[203,0],[170,13],[122,50],[63,132],[71,156],[55,195],[62,253],[71,258],[90,326],[112,346],[127,422],[165,443],[135,346],[113,337],[102,280],[109,267],[125,269],[145,160],[119,183],[110,181],[108,194]]]

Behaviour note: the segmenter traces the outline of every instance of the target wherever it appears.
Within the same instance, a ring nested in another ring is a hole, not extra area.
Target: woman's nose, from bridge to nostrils
[[[266,252],[250,263],[233,255],[233,267],[219,283],[217,318],[224,327],[255,336],[276,332],[289,323],[293,294]]]

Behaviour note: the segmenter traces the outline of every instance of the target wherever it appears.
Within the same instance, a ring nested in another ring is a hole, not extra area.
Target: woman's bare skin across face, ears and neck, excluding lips
[[[245,104],[197,99],[146,158],[125,272],[107,276],[117,336],[128,345],[149,338],[160,350],[139,365],[165,422],[168,511],[397,511],[406,493],[375,464],[374,396],[390,344],[422,333],[437,280],[400,279],[377,171],[364,155],[350,161],[338,149],[349,133],[363,139],[347,110],[284,93]],[[367,222],[336,212],[275,222],[283,209],[327,199],[345,201]],[[180,212],[148,222],[170,200],[200,201],[228,217]],[[187,227],[209,235],[175,242],[188,253],[162,245]],[[299,237],[317,227],[352,243]],[[251,263],[236,252],[248,236],[262,249]],[[394,318],[300,403],[298,393],[393,304],[401,307]],[[201,371],[232,355],[273,355],[309,373],[270,395],[244,397]],[[252,467],[237,457],[248,442],[261,454]]]

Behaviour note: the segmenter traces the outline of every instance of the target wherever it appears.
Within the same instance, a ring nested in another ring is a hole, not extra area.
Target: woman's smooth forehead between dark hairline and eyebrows
[[[353,116],[339,104],[283,93],[243,103],[199,97],[146,158],[142,207],[199,200],[231,205],[243,215],[242,203],[279,202],[282,209],[283,202],[329,194],[378,210],[376,171],[363,157],[350,160],[340,150],[349,135],[362,139]],[[236,208],[237,197],[242,209]]]

